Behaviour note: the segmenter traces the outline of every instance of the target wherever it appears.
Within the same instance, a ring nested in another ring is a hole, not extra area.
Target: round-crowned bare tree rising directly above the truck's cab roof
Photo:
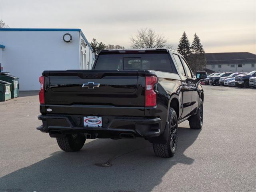
[[[167,39],[150,28],[140,29],[130,38],[132,48],[164,48]]]

